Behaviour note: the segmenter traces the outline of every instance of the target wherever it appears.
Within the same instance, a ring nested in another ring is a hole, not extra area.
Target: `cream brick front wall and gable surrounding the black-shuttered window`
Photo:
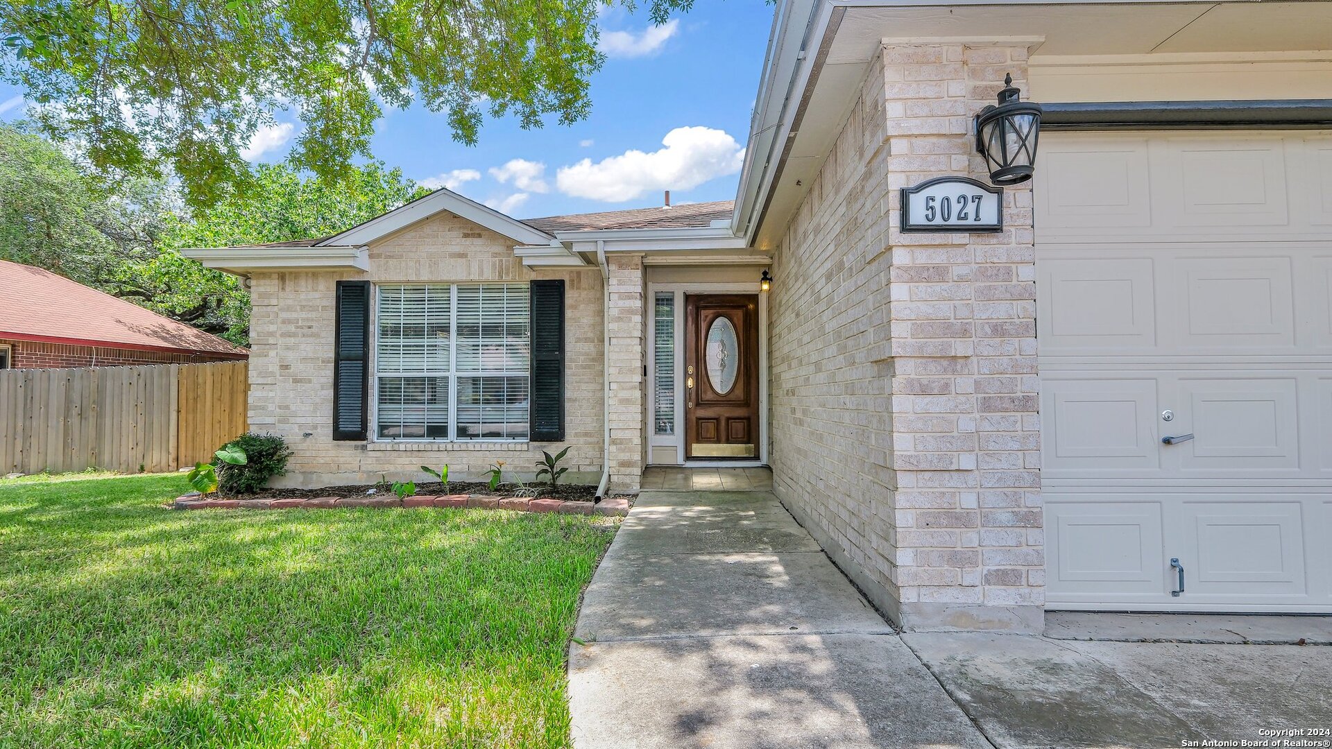
[[[284,485],[422,478],[418,466],[448,462],[453,477],[482,477],[488,466],[534,473],[542,449],[571,446],[566,480],[595,482],[602,469],[602,283],[597,268],[533,271],[513,241],[449,213],[370,247],[370,273],[256,273],[250,289],[252,429],[272,432],[294,456]],[[333,441],[334,284],[342,279],[401,281],[527,281],[565,279],[565,442]],[[305,437],[305,433],[310,433]]]

